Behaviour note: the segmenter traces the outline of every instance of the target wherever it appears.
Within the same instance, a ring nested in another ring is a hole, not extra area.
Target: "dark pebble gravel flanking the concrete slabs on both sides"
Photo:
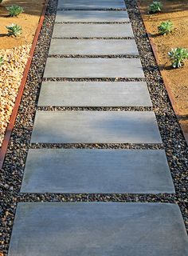
[[[33,56],[33,62],[29,70],[29,77],[25,85],[21,106],[18,111],[17,121],[10,145],[6,154],[3,170],[1,171],[2,209],[1,249],[5,255],[10,242],[10,234],[14,221],[17,202],[173,202],[178,203],[182,211],[183,219],[188,230],[188,212],[186,205],[188,185],[188,148],[177,118],[172,110],[168,95],[166,94],[163,80],[156,65],[151,46],[147,39],[139,11],[135,0],[127,0],[127,10],[131,18],[140,58],[143,64],[147,85],[151,93],[153,110],[159,124],[159,130],[163,138],[163,146],[155,145],[151,148],[163,148],[166,150],[170,171],[174,179],[176,194],[20,194],[22,174],[25,166],[25,158],[29,147],[41,148],[47,145],[32,144],[29,139],[33,128],[33,118],[37,110],[37,98],[40,91],[42,74],[49,49],[49,41],[53,30],[56,0],[49,1],[45,23],[37,43]],[[100,80],[100,79],[99,79]],[[81,79],[80,79],[81,81]],[[76,110],[71,108],[71,110]],[[84,109],[83,109],[84,110]],[[95,110],[95,108],[89,108]],[[100,109],[99,109],[100,110]],[[111,109],[108,109],[111,110]],[[147,148],[148,145],[130,144],[74,144],[74,145],[49,145],[49,147],[76,147],[76,148]]]

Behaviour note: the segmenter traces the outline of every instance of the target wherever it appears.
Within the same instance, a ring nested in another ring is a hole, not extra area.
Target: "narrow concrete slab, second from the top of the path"
[[[56,22],[129,22],[126,10],[57,10]]]

